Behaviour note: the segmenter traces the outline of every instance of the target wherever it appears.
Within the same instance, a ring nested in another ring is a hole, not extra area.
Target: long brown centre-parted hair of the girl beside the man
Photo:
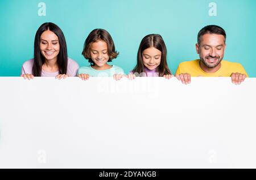
[[[142,52],[143,50],[151,47],[154,47],[162,52],[160,65],[157,67],[157,72],[159,73],[159,76],[172,74],[167,65],[166,44],[164,44],[162,36],[156,34],[147,35],[142,39],[137,53],[137,65],[134,67],[133,73],[137,72],[138,74],[141,74],[141,72],[146,72],[144,70]]]

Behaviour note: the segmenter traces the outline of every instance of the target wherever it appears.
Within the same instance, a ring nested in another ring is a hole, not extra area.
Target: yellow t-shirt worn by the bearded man
[[[221,61],[221,68],[216,72],[204,72],[200,65],[200,59],[194,61],[181,62],[177,67],[176,74],[188,73],[192,77],[203,76],[203,77],[218,77],[218,76],[230,76],[232,72],[239,72],[245,74],[248,78],[248,75],[240,63]]]

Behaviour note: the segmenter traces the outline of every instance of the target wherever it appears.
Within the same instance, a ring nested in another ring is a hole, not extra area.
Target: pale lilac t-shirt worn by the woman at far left
[[[34,65],[34,59],[30,59],[23,63],[21,74],[33,74],[32,67]],[[67,67],[67,75],[76,76],[77,70],[79,69],[79,65],[71,58],[68,58],[68,67]],[[59,71],[56,72],[47,72],[42,70],[42,77],[55,77],[59,74]]]

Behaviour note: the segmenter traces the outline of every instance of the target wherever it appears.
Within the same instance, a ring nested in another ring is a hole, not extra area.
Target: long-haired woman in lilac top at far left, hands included
[[[65,79],[76,76],[79,65],[68,58],[67,44],[61,29],[53,23],[42,24],[35,35],[34,59],[23,63],[20,76],[33,79],[34,76]]]

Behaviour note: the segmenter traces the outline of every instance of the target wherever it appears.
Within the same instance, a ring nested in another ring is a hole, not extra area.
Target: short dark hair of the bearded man
[[[216,35],[223,35],[226,42],[226,32],[223,28],[218,25],[207,25],[203,29],[201,29],[197,35],[197,44],[200,44],[201,37],[205,34],[216,34]]]

